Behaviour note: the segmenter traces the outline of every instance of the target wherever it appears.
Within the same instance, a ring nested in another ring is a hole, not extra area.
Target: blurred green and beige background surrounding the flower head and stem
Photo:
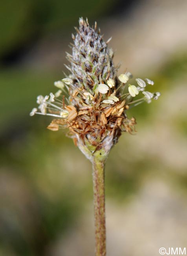
[[[117,65],[161,97],[130,110],[106,163],[108,256],[187,245],[187,2],[9,0],[0,4],[0,255],[94,256],[92,172],[65,132],[29,117],[54,91],[79,17],[97,20]]]

